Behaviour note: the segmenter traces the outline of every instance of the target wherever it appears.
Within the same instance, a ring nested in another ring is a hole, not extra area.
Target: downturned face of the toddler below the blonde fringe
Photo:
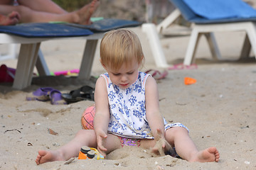
[[[105,67],[105,69],[110,75],[112,83],[121,89],[127,89],[134,84],[139,75],[139,64],[135,60],[128,66],[122,64],[122,67],[118,70],[113,70],[110,67]]]

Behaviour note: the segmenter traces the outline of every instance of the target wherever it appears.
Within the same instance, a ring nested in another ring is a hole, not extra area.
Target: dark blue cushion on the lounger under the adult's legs
[[[137,21],[120,19],[103,19],[88,26],[75,23],[22,23],[16,26],[0,26],[0,33],[10,33],[28,38],[75,37],[141,24]]]

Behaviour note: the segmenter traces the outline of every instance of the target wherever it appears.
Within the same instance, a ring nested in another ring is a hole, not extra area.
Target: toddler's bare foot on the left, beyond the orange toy
[[[39,150],[38,156],[36,157],[36,164],[43,164],[46,162],[53,162],[53,161],[65,161],[58,151],[45,151]]]

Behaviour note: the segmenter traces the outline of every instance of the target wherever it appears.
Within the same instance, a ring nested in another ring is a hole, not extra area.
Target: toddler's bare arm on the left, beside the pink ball
[[[103,77],[97,79],[95,85],[95,118],[93,126],[97,137],[97,149],[101,154],[106,155],[107,149],[104,141],[107,138],[107,127],[110,121],[110,110],[107,99],[107,87]]]

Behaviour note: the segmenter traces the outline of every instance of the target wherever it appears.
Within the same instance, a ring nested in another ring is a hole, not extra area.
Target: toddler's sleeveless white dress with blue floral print
[[[139,72],[137,81],[127,89],[120,89],[112,84],[107,73],[101,74],[107,84],[107,94],[110,104],[110,123],[108,132],[134,139],[154,139],[149,123],[146,120],[145,84],[149,74]],[[183,127],[181,123],[166,124],[165,129]]]

